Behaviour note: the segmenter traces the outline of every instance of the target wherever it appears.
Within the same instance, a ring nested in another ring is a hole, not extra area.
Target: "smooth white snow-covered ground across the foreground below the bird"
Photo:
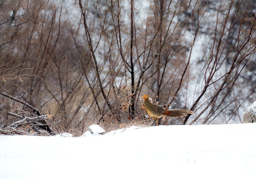
[[[256,123],[0,136],[1,179],[255,179]]]

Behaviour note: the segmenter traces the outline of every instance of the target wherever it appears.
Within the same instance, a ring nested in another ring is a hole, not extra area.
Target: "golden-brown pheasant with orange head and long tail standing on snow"
[[[187,109],[164,109],[161,106],[156,104],[152,104],[149,99],[148,95],[143,95],[142,98],[144,99],[144,104],[146,111],[150,117],[153,117],[156,120],[156,125],[158,122],[158,118],[167,116],[167,117],[183,117],[186,114],[193,114],[194,112]]]

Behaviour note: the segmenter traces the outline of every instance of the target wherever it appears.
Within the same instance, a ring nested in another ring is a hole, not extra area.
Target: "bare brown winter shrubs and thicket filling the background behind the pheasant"
[[[144,94],[195,112],[161,125],[242,123],[255,14],[254,0],[1,0],[0,133],[154,125]]]

